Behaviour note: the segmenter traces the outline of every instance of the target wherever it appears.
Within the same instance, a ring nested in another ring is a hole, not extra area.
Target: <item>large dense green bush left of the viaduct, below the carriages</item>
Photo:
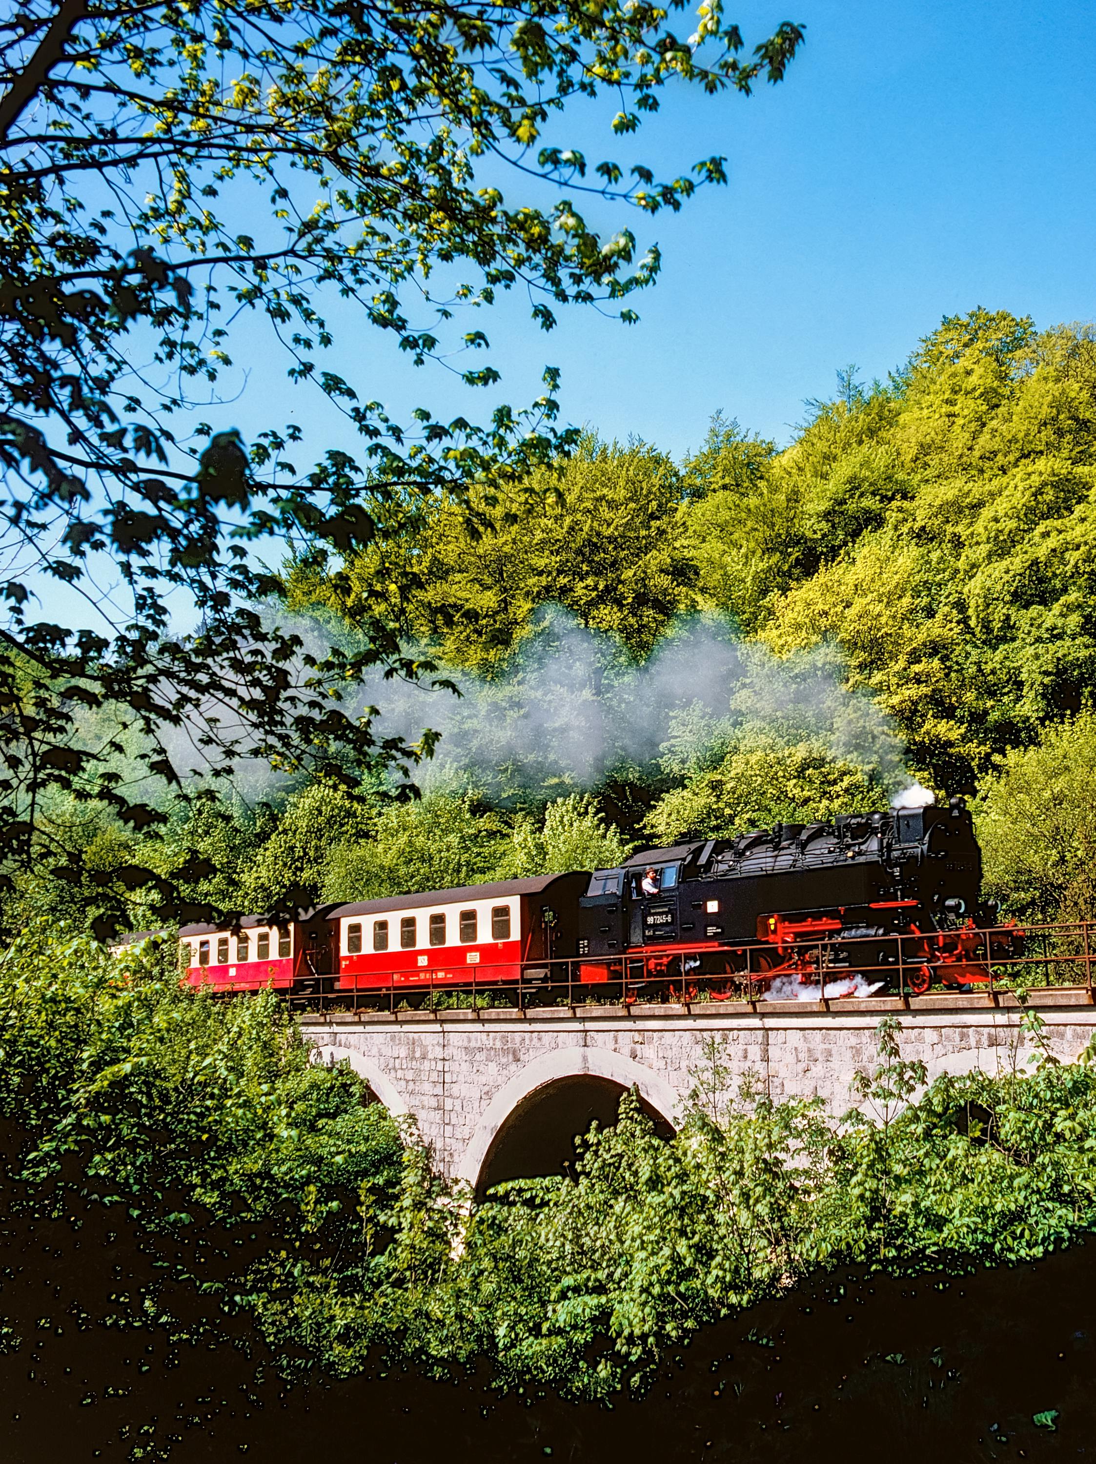
[[[151,943],[114,957],[42,922],[0,962],[0,1013],[7,1203],[117,1206],[181,1246],[215,1309],[246,1290],[259,1233],[307,1263],[357,1243],[369,1196],[398,1189],[394,1121],[351,1073],[310,1064],[272,996],[218,1003]]]

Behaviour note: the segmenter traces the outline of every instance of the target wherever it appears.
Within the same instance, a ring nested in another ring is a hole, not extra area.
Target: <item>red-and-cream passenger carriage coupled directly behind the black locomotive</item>
[[[546,979],[536,962],[575,949],[587,874],[543,874],[462,890],[397,895],[328,912],[339,991]],[[530,965],[533,963],[533,965]]]

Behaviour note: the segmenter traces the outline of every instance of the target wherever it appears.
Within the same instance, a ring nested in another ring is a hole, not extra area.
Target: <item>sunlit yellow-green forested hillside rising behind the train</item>
[[[717,414],[679,463],[588,432],[471,505],[389,496],[367,546],[288,562],[269,613],[435,663],[439,690],[369,691],[382,731],[442,732],[424,796],[275,772],[154,791],[155,837],[59,802],[66,877],[16,883],[9,922],[140,925],[142,865],[225,909],[604,865],[912,779],[976,796],[1008,908],[1090,912],[1095,490],[1096,334],[979,309],[887,382],[838,372],[784,449]]]

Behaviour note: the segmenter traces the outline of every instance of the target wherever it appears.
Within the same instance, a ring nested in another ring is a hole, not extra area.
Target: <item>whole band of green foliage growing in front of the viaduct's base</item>
[[[294,1376],[487,1359],[500,1382],[607,1397],[819,1269],[961,1272],[1096,1225],[1090,1054],[1055,1061],[1035,1015],[996,1076],[928,1089],[884,1019],[843,1117],[733,1083],[713,1038],[676,1138],[625,1095],[572,1177],[468,1212],[351,1072],[309,1063],[274,1000],[217,1003],[148,947],[119,962],[34,931],[0,1003],[9,1212],[69,1217],[75,1239],[80,1215],[114,1215],[155,1256],[80,1325],[215,1347],[246,1315]]]

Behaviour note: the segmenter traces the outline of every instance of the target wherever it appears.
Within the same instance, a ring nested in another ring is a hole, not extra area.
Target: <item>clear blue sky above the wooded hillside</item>
[[[730,4],[727,18],[751,44],[781,19],[806,25],[787,79],[752,98],[667,92],[638,151],[663,168],[726,154],[729,186],[653,221],[582,201],[590,217],[657,239],[661,280],[635,300],[631,328],[571,309],[544,335],[517,300],[471,322],[490,335],[506,400],[531,400],[552,363],[565,417],[604,436],[637,433],[679,455],[721,407],[783,442],[837,366],[885,376],[945,313],[1096,316],[1090,6],[796,0]],[[620,151],[590,114],[560,138],[591,161]],[[442,416],[484,411],[483,394],[436,367],[411,373],[388,343],[345,325],[334,365],[398,417],[420,401]],[[331,430],[315,394],[277,369],[253,369],[227,414],[246,432],[271,416],[310,438]]]

